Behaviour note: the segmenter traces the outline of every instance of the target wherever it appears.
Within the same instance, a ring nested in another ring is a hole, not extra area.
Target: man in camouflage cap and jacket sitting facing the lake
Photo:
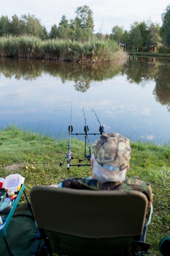
[[[144,193],[148,198],[148,209],[141,240],[145,241],[147,226],[152,214],[152,190],[150,185],[141,181],[139,177],[126,177],[132,152],[130,140],[116,132],[104,133],[93,145],[93,151],[92,177],[66,179],[60,182],[58,187],[91,190],[130,189]]]

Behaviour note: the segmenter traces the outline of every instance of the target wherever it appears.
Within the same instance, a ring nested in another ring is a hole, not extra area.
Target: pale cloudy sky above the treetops
[[[152,20],[162,24],[161,14],[165,12],[170,0],[0,0],[0,17],[19,17],[30,13],[40,19],[47,31],[51,26],[58,25],[62,15],[68,20],[74,19],[76,9],[87,5],[93,11],[95,33],[110,34],[115,25],[124,26],[129,31],[135,21]]]

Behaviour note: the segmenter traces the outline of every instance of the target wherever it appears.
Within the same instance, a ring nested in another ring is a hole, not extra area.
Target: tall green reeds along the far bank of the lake
[[[34,36],[0,37],[0,56],[13,58],[42,58],[74,62],[102,62],[127,58],[116,42],[71,40],[41,40]]]

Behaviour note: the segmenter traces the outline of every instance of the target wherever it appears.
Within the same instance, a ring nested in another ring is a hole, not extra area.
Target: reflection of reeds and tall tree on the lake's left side
[[[119,74],[124,63],[124,59],[114,63],[89,65],[51,60],[0,58],[0,74],[4,74],[6,78],[14,76],[18,80],[33,81],[45,73],[53,77],[60,77],[62,83],[74,81],[75,90],[86,92],[91,83],[112,79]]]

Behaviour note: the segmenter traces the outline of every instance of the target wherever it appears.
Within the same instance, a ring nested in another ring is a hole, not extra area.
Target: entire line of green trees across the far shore
[[[94,34],[93,11],[87,5],[77,7],[74,19],[68,20],[62,16],[58,25],[53,24],[50,32],[41,24],[41,21],[31,14],[24,14],[20,18],[14,14],[11,19],[8,16],[0,17],[0,36],[5,35],[31,35],[41,39],[60,38],[72,41],[115,40],[124,43],[128,50],[140,51],[143,43],[150,47],[151,42],[159,45],[159,52],[170,52],[170,4],[162,14],[162,26],[149,20],[148,22],[134,22],[130,30],[124,30],[123,26],[115,25],[110,34],[98,32]]]

